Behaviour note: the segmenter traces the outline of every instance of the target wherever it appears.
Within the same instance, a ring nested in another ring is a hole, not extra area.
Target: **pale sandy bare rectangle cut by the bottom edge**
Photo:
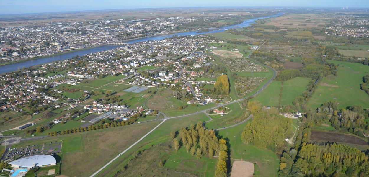
[[[232,165],[231,177],[252,177],[254,174],[254,164],[245,161],[235,161]]]

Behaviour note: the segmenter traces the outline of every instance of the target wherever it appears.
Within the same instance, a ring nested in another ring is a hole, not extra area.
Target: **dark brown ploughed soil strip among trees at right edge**
[[[362,140],[356,136],[347,135],[343,133],[323,132],[314,130],[311,131],[310,140],[323,142],[349,143],[355,145],[368,145],[368,143],[365,140]]]

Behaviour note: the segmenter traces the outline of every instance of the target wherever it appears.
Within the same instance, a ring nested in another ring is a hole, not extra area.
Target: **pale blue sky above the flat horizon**
[[[0,0],[0,14],[160,7],[368,7],[369,0]]]

